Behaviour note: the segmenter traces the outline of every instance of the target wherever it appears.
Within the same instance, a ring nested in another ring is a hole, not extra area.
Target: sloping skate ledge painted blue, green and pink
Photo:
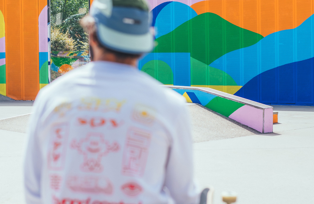
[[[183,95],[187,102],[198,103],[223,116],[229,117],[260,133],[273,132],[273,107],[244,99],[212,88],[170,86]]]

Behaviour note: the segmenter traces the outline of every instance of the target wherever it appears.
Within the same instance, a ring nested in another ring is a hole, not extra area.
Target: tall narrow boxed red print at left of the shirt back
[[[68,144],[68,123],[62,123],[51,129],[48,146],[48,167],[60,171],[64,167]]]

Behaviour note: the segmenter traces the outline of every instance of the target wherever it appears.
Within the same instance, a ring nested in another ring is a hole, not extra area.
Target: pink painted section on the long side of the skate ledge
[[[234,111],[229,118],[242,123],[248,127],[263,132],[263,110],[244,105]]]

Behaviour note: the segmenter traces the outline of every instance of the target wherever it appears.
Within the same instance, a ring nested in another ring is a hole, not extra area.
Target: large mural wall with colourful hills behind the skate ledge
[[[314,104],[313,0],[149,3],[156,48],[140,70],[264,104]]]

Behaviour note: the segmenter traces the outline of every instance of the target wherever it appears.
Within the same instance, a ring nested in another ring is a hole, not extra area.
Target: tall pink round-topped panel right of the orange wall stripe
[[[48,52],[48,10],[47,6],[39,14],[39,52]]]

